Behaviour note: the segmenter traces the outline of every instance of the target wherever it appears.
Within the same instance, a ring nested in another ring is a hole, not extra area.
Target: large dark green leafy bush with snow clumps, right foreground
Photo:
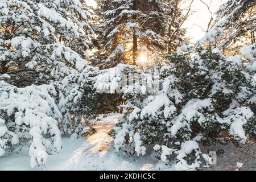
[[[111,132],[117,150],[145,155],[152,146],[164,165],[191,169],[207,159],[201,146],[225,142],[221,131],[237,142],[255,139],[256,85],[247,72],[217,49],[181,47],[168,59],[157,94],[125,92],[125,117]]]

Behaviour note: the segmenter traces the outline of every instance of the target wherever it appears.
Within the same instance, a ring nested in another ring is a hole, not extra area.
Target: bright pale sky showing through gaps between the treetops
[[[191,0],[184,0],[187,3],[190,3]],[[218,10],[221,4],[225,3],[228,0],[202,0],[203,2],[210,5],[210,11],[214,13]],[[192,14],[189,18],[184,22],[183,27],[187,28],[187,36],[191,38],[191,42],[195,43],[196,40],[203,38],[205,32],[200,28],[207,29],[208,22],[210,20],[210,13],[207,9],[207,6],[200,0],[194,0],[192,3]],[[94,8],[97,7],[97,3],[94,0],[86,0],[88,6],[93,6]]]

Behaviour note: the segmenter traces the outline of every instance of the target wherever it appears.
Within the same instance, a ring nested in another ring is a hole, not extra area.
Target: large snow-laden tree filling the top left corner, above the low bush
[[[93,36],[85,8],[79,0],[1,1],[0,73],[24,86],[82,69]]]

